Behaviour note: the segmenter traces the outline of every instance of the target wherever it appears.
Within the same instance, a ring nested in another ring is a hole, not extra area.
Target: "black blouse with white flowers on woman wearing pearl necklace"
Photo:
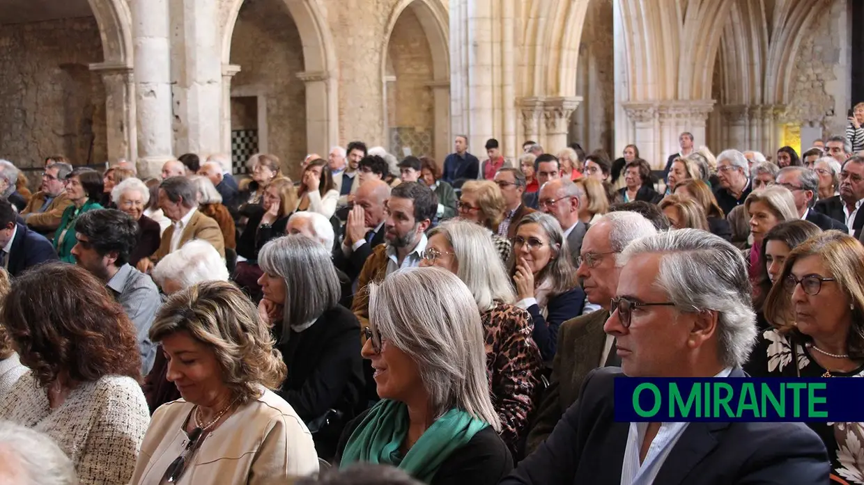
[[[754,377],[822,377],[828,371],[810,355],[810,349],[795,343],[797,368],[791,335],[769,329],[762,333],[745,370]],[[830,371],[833,377],[864,377],[864,366],[852,372]],[[822,438],[831,458],[832,483],[864,484],[864,423],[807,423]],[[838,480],[841,479],[841,480]]]

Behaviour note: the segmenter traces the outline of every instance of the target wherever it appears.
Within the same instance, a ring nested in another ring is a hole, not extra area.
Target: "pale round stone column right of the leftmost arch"
[[[138,176],[158,177],[173,156],[168,0],[131,0]]]

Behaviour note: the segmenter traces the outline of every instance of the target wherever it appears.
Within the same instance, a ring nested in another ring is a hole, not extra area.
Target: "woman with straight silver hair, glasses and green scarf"
[[[442,268],[408,268],[369,286],[362,354],[381,400],[350,423],[337,451],[395,466],[430,485],[494,485],[512,469],[498,436],[480,311]]]

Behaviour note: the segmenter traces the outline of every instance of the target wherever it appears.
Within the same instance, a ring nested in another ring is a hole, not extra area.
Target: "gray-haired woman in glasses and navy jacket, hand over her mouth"
[[[555,217],[532,212],[519,221],[510,272],[516,305],[531,314],[534,342],[544,362],[555,357],[558,327],[585,307],[585,292],[570,261],[567,238]]]

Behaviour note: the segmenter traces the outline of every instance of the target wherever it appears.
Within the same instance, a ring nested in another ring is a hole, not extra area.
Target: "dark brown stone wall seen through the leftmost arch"
[[[19,167],[41,167],[51,154],[105,162],[105,88],[89,69],[101,60],[93,17],[3,25],[0,157]]]

